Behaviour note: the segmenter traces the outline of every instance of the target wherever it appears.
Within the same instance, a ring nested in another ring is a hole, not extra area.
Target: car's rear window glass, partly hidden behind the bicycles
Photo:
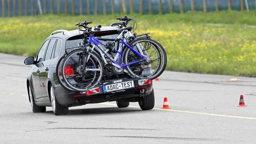
[[[96,38],[116,39],[116,37],[118,37],[118,34],[98,36]],[[107,43],[108,41],[103,41],[103,42]],[[80,46],[81,44],[83,44],[83,39],[81,38],[81,36],[78,35],[78,36],[72,37],[71,39],[68,39],[66,41],[66,49],[71,48],[71,47]]]

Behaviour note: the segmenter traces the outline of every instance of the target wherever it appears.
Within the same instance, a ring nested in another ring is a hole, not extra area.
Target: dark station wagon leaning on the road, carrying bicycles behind
[[[95,36],[105,41],[114,39],[118,35],[117,29],[101,27]],[[80,44],[81,33],[78,29],[57,30],[45,39],[35,59],[32,56],[25,59],[26,65],[32,65],[26,83],[33,112],[45,112],[46,107],[52,107],[55,115],[65,115],[69,107],[107,101],[116,101],[118,107],[128,107],[130,102],[138,102],[142,110],[154,107],[154,90],[150,79],[129,78],[123,74],[108,78],[85,93],[64,88],[57,78],[57,63],[68,48]],[[118,85],[126,87],[115,89]]]

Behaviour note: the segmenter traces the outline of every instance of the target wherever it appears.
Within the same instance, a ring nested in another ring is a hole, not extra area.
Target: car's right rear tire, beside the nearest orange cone
[[[149,95],[145,95],[143,100],[139,102],[141,110],[151,110],[155,106],[154,89]]]

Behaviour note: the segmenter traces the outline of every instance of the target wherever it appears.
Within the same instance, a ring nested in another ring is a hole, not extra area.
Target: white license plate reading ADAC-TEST
[[[128,88],[133,88],[133,87],[134,87],[133,81],[126,81],[126,82],[122,82],[122,83],[103,85],[103,92],[106,93],[106,92],[123,90],[123,89],[128,89]]]

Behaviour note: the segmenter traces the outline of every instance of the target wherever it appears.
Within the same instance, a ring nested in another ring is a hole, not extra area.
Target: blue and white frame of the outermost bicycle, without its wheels
[[[121,36],[123,36],[123,32],[121,32],[121,34],[118,35],[117,39],[121,39]],[[95,37],[93,37],[93,35],[90,35],[90,36],[89,36],[89,43],[94,43],[94,44],[98,47],[98,49],[100,49],[100,50],[103,52],[103,54],[105,54],[105,55],[107,56],[107,58],[112,61],[112,65],[113,65],[113,66],[116,66],[116,67],[118,67],[118,68],[123,68],[123,67],[126,67],[126,66],[130,66],[130,65],[132,65],[132,64],[134,64],[134,63],[139,63],[140,61],[145,61],[145,59],[146,59],[145,56],[143,56],[143,55],[140,54],[138,51],[136,51],[136,50],[133,49],[131,46],[129,46],[129,45],[124,41],[123,38],[121,39],[121,49],[120,49],[120,51],[118,51],[119,49],[118,49],[118,50],[115,49],[115,52],[119,54],[119,61],[118,61],[118,63],[116,62],[116,59],[117,59],[117,56],[118,56],[118,55],[116,54],[115,58],[111,57],[111,56],[108,54],[108,52],[100,45],[100,44],[102,44],[102,45],[105,46],[105,45],[106,45],[105,43],[103,43],[102,41],[96,39]],[[123,45],[127,46],[131,51],[133,51],[135,54],[137,54],[138,56],[142,57],[143,59],[122,65],[122,64],[121,64],[121,60],[122,60],[122,54],[123,54]],[[93,49],[94,49],[94,47],[93,47]],[[139,49],[139,50],[140,50],[140,49]],[[105,61],[106,61],[106,60],[105,60]],[[104,61],[104,62],[105,62],[105,61]]]

